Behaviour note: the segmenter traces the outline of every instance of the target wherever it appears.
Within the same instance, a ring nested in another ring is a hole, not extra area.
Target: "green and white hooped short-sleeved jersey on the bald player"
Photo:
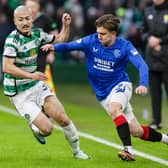
[[[43,32],[41,29],[33,29],[31,36],[24,36],[14,30],[6,38],[3,56],[14,58],[14,64],[24,71],[33,73],[37,69],[37,55],[40,46],[51,43],[53,35]],[[14,96],[34,86],[38,81],[15,77],[11,74],[4,74],[4,94]]]

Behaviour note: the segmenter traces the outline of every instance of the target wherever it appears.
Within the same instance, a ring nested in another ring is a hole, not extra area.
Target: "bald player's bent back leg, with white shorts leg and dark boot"
[[[52,131],[52,124],[41,112],[41,108],[30,100],[31,89],[11,98],[18,113],[29,123],[33,135],[41,143],[45,144],[44,136],[48,136]],[[29,95],[29,96],[28,96]]]

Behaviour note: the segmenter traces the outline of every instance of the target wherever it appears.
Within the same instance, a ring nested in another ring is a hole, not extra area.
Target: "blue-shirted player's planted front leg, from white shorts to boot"
[[[122,82],[113,88],[106,100],[101,102],[114,121],[118,135],[124,146],[123,150],[120,151],[118,155],[121,159],[127,161],[135,160],[132,154],[132,144],[128,122],[123,114],[131,94],[131,84],[128,82]]]

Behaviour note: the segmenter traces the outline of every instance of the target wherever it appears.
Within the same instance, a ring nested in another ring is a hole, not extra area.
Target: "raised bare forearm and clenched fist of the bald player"
[[[71,24],[70,15],[68,13],[64,13],[62,16],[61,32],[55,36],[55,40],[53,41],[53,43],[61,43],[68,40],[70,34],[70,24]]]

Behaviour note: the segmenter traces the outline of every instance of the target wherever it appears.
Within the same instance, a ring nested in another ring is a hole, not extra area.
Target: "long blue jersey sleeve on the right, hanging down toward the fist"
[[[139,71],[139,85],[147,86],[149,76],[147,64],[145,63],[139,52],[136,50],[136,48],[130,42],[128,42],[126,50],[129,61]]]

